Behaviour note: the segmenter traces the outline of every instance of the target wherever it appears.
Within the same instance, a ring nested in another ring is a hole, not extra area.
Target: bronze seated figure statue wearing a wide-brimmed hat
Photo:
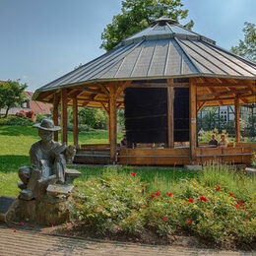
[[[38,128],[40,141],[34,143],[30,150],[32,167],[23,166],[19,169],[18,182],[21,188],[20,198],[32,200],[38,197],[38,188],[48,184],[65,183],[66,163],[72,162],[75,157],[75,146],[66,146],[52,141],[53,132],[59,131],[59,126],[43,119],[41,123],[34,124]]]

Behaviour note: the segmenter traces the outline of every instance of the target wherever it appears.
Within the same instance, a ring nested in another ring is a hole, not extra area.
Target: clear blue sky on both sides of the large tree
[[[185,24],[230,49],[243,24],[256,24],[256,0],[182,0]],[[30,91],[104,53],[100,34],[121,0],[0,0],[0,80],[21,79]]]

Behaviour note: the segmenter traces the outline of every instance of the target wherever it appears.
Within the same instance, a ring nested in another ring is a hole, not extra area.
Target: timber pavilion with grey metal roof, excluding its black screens
[[[116,110],[124,108],[126,88],[165,88],[167,141],[164,148],[120,149],[117,154]],[[189,146],[175,147],[173,100],[177,88],[189,89]],[[239,103],[256,101],[256,64],[224,50],[216,42],[160,18],[109,52],[36,90],[33,99],[53,104],[61,141],[67,143],[67,106],[73,105],[74,145],[82,162],[88,150],[110,148],[111,162],[124,164],[188,164],[207,160],[249,162],[253,144],[240,143]],[[204,106],[235,105],[235,147],[203,148],[197,144],[197,112]],[[78,141],[78,106],[101,107],[108,116],[107,145]],[[57,133],[54,135],[57,141]],[[84,149],[84,157],[83,157]],[[94,152],[95,154],[95,152]],[[100,154],[96,155],[100,156]]]

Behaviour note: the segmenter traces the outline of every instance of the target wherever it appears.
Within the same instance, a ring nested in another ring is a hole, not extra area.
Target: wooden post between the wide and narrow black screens
[[[167,129],[168,129],[168,148],[174,147],[174,112],[173,112],[173,103],[174,103],[174,89],[173,87],[167,88]]]

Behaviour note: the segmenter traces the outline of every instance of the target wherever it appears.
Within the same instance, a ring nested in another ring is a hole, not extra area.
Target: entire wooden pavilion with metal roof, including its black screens
[[[67,143],[67,106],[73,106],[76,162],[173,165],[207,161],[249,163],[255,144],[240,142],[239,104],[256,102],[256,63],[216,45],[177,22],[160,18],[109,52],[38,89],[33,99],[53,104]],[[197,112],[234,105],[235,144],[197,142]],[[78,106],[101,107],[108,144],[81,145]],[[128,147],[119,148],[117,108],[124,108]],[[55,134],[57,140],[57,134]]]

